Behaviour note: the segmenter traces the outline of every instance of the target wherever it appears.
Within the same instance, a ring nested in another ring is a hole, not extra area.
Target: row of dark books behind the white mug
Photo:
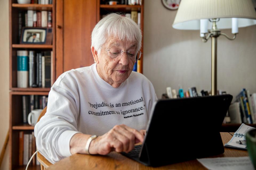
[[[29,113],[34,109],[43,109],[47,106],[48,96],[23,95],[22,96],[22,116],[23,123],[27,123]]]

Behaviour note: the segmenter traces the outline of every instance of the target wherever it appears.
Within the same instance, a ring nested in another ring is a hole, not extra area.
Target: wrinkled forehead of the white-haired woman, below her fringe
[[[128,41],[127,39],[119,39],[118,37],[109,37],[106,40],[105,43],[107,48],[110,47],[137,47],[137,42],[136,41]]]

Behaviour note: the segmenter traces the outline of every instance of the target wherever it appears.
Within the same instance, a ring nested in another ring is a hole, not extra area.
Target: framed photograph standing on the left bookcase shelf
[[[23,27],[20,44],[52,44],[52,28]]]

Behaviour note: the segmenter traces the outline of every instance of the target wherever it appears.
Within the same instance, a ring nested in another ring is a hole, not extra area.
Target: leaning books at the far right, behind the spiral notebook
[[[236,96],[229,107],[230,123],[256,123],[256,93],[250,95],[245,88]]]

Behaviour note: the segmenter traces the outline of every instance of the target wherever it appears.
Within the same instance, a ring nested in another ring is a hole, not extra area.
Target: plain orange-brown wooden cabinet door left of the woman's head
[[[96,7],[96,1],[63,1],[63,72],[94,63],[90,37]]]

